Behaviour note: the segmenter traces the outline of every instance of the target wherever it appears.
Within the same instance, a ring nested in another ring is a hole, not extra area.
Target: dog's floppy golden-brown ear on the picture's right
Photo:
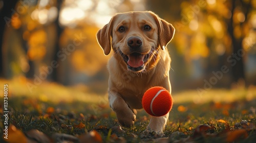
[[[157,27],[158,27],[158,40],[161,49],[164,50],[166,45],[173,39],[175,29],[172,24],[168,23],[164,19],[159,18],[155,13],[150,12],[153,15]]]

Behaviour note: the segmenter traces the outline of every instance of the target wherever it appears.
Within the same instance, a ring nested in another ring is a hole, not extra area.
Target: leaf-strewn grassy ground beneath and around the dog
[[[31,81],[23,77],[0,80],[9,85],[9,139],[20,134],[20,138],[37,142],[44,142],[42,138],[50,142],[59,139],[71,142],[253,142],[256,139],[254,86],[212,89],[200,96],[196,90],[173,94],[175,102],[165,136],[157,138],[155,132],[143,132],[150,120],[144,110],[138,111],[132,128],[123,128],[110,109],[106,94],[95,94],[83,85],[65,87],[48,82],[30,92],[28,82]],[[0,99],[3,101],[3,97]],[[4,123],[2,113],[0,122]],[[4,131],[3,124],[0,129]],[[0,139],[5,141],[10,142]],[[14,141],[20,142],[20,139]]]

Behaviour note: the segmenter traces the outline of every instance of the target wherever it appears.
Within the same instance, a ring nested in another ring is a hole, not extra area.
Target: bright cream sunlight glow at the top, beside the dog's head
[[[130,9],[123,2],[123,0],[98,0],[97,2],[93,0],[65,0],[59,13],[59,22],[63,26],[74,27],[77,25],[77,21],[93,21],[98,27],[102,27],[110,21],[117,11],[145,10],[143,0],[131,0],[135,6],[134,9]]]

